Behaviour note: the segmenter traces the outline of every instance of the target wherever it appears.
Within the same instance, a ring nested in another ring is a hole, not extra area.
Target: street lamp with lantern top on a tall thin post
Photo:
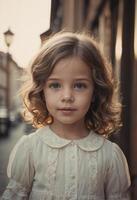
[[[8,125],[10,123],[10,53],[9,48],[12,44],[14,33],[10,29],[4,32],[4,39],[7,46],[7,65],[6,65],[6,106],[7,106],[7,115],[8,115]]]

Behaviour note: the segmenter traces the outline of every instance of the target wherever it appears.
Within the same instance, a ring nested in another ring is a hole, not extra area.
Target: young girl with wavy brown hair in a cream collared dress
[[[31,64],[24,103],[37,131],[13,149],[2,200],[129,200],[110,66],[87,35],[59,33]]]

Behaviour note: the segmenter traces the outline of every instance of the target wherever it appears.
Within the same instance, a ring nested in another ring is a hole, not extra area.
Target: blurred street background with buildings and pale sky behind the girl
[[[33,128],[21,115],[18,90],[31,58],[52,33],[88,31],[112,63],[122,94],[123,150],[137,199],[137,0],[0,0],[0,195],[11,149]]]

